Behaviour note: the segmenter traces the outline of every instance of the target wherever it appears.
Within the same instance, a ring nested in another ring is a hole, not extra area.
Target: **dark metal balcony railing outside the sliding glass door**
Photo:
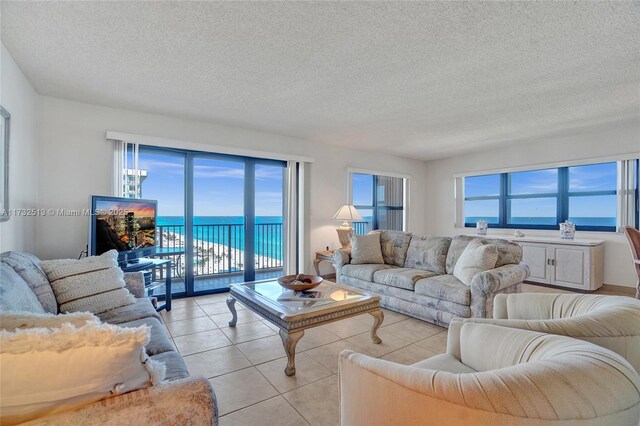
[[[158,256],[172,257],[173,276],[184,277],[184,225],[156,227]],[[193,226],[193,275],[223,276],[244,271],[244,225],[206,224]],[[255,269],[283,267],[282,224],[255,225]]]

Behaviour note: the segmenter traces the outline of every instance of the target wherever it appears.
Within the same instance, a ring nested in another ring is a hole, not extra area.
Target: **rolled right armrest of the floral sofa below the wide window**
[[[499,293],[519,293],[522,282],[529,277],[529,267],[504,265],[476,274],[471,280],[471,316],[490,317],[493,313],[493,298]]]

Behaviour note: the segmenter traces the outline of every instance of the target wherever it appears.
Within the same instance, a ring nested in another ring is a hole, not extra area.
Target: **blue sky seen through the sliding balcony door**
[[[158,200],[159,216],[184,215],[184,160],[161,152],[141,152],[141,170],[147,171],[142,197]],[[194,214],[244,215],[244,163],[194,159]],[[282,215],[283,168],[256,165],[256,215]]]

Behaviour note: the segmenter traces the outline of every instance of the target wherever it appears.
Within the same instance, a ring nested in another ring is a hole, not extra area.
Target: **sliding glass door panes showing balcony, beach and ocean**
[[[174,295],[282,275],[284,162],[151,147],[139,158],[141,196],[158,200],[157,252],[173,261]]]

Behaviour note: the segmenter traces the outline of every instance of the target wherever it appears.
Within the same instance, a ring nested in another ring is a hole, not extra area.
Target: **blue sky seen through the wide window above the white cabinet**
[[[557,169],[511,173],[511,194],[539,194],[538,198],[511,201],[513,217],[553,217],[556,198],[545,197],[558,190]],[[616,163],[594,164],[569,168],[569,192],[607,191],[616,189]],[[498,196],[500,175],[465,178],[465,197]],[[494,217],[498,215],[497,200],[465,202],[465,216]],[[569,198],[571,217],[615,217],[616,196],[582,196]]]

